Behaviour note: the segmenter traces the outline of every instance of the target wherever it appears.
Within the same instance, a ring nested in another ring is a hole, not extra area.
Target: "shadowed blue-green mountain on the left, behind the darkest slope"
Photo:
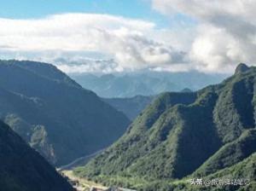
[[[0,119],[51,164],[108,147],[129,119],[56,67],[0,61]]]

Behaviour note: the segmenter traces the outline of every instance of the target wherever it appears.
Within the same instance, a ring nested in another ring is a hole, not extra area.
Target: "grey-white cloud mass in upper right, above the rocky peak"
[[[189,50],[194,68],[205,72],[230,72],[238,62],[256,61],[256,1],[253,0],[153,0],[163,14],[186,14],[198,20]]]

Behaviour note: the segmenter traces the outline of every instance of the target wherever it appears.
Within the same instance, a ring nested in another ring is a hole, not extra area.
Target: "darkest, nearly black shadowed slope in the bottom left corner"
[[[4,191],[71,191],[67,180],[0,121],[0,189]]]

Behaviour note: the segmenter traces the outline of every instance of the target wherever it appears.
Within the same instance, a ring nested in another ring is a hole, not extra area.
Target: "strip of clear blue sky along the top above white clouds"
[[[93,13],[112,14],[131,19],[153,21],[158,27],[178,26],[180,22],[195,25],[183,14],[171,18],[151,8],[149,0],[0,0],[0,17],[36,19],[51,14]]]

